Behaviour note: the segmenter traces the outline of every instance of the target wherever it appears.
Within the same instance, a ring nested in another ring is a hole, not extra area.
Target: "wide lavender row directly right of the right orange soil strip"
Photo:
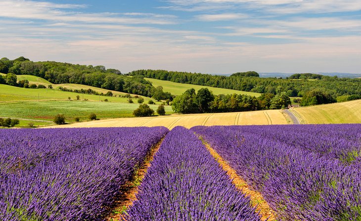
[[[355,125],[350,127],[355,129]],[[332,128],[336,134],[337,128]],[[352,131],[347,125],[340,127],[343,129]],[[279,220],[357,221],[361,218],[360,168],[342,165],[314,149],[281,142],[275,133],[269,133],[276,130],[282,134],[282,130],[286,130],[292,134],[292,130],[299,130],[296,125],[283,128],[213,126],[191,130],[203,136],[238,175],[263,194]],[[308,137],[304,135],[303,139]],[[309,142],[309,147],[317,145],[315,140]]]

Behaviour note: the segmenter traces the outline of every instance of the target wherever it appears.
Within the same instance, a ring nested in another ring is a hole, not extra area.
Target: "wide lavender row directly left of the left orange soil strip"
[[[119,187],[130,179],[151,146],[168,132],[164,127],[62,130],[42,129],[42,132],[48,134],[50,141],[74,142],[75,148],[69,154],[50,157],[52,160],[41,160],[31,169],[0,177],[0,220],[101,220]],[[31,137],[39,132],[14,130],[13,133]],[[82,135],[85,139],[78,140],[72,135]],[[57,144],[50,143],[49,147],[56,149]],[[45,149],[49,144],[43,140],[36,145]],[[59,152],[64,152],[61,147],[68,146],[59,145]]]

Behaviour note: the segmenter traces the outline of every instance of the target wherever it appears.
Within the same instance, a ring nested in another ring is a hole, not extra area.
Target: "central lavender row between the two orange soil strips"
[[[183,127],[164,139],[128,221],[258,221],[250,199],[231,184],[202,142]]]

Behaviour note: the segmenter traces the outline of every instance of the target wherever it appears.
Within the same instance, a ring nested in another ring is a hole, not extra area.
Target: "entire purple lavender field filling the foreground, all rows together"
[[[202,141],[276,220],[361,220],[360,124],[0,130],[0,220],[104,220],[164,136],[120,220],[264,220]]]

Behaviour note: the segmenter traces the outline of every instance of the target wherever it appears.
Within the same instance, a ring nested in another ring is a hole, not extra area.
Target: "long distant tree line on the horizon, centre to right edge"
[[[289,97],[303,97],[307,92],[314,89],[320,89],[330,94],[335,100],[338,96],[361,95],[360,78],[338,78],[337,76],[330,77],[320,74],[295,74],[292,75],[292,79],[260,78],[256,72],[235,73],[230,76],[224,76],[165,70],[137,70],[128,74],[142,75],[144,77],[169,80],[177,83],[227,88],[262,94],[271,93],[276,95],[284,92]]]

